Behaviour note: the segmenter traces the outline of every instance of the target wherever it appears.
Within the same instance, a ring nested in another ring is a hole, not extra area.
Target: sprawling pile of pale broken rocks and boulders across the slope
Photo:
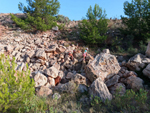
[[[105,101],[111,100],[118,89],[123,95],[126,89],[143,88],[143,80],[134,71],[149,64],[146,56],[137,54],[127,63],[119,64],[109,50],[104,50],[95,58],[88,54],[83,62],[82,50],[63,40],[55,41],[57,34],[61,33],[54,30],[43,35],[16,35],[9,31],[0,40],[0,53],[15,57],[16,70],[26,71],[26,64],[29,66],[37,95],[51,95],[53,89],[74,93],[76,83],[79,92],[87,91]],[[147,76],[149,67],[143,71]]]

